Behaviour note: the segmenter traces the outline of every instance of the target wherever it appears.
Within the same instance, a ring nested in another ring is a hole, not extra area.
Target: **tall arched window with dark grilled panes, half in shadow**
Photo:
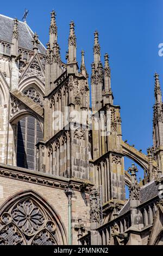
[[[36,168],[35,145],[42,140],[42,129],[35,117],[24,117],[17,123],[17,166]]]

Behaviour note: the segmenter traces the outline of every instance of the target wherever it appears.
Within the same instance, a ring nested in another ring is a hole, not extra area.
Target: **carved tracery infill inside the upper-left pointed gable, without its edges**
[[[24,79],[30,78],[31,76],[36,76],[36,78],[39,78],[43,84],[45,84],[45,75],[43,74],[36,58],[24,74]]]

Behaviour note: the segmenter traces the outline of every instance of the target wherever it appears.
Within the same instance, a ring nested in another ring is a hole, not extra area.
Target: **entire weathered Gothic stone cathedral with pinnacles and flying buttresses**
[[[55,16],[52,11],[45,49],[26,22],[0,15],[0,245],[162,245],[159,75],[146,155],[122,140],[98,32],[90,108],[74,22],[64,63]],[[140,183],[134,164],[124,170],[124,156],[145,170]]]

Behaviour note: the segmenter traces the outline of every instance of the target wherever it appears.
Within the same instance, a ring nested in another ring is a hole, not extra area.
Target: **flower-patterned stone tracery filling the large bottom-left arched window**
[[[56,225],[30,197],[17,200],[0,221],[0,245],[57,245]]]

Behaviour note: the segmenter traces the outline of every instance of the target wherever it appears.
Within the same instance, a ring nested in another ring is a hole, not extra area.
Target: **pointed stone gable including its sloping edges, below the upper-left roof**
[[[42,67],[39,55],[37,53],[31,59],[27,68],[22,73],[19,83],[27,78],[31,78],[32,76],[35,76],[43,84],[45,84],[45,71]]]

